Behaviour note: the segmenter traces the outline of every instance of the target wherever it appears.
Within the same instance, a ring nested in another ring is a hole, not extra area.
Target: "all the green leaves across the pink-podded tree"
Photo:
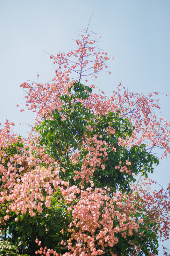
[[[116,113],[110,111],[106,115],[100,116],[84,106],[83,100],[88,100],[89,94],[92,92],[91,88],[76,81],[69,88],[68,92],[68,95],[65,94],[60,97],[63,102],[60,109],[55,109],[51,118],[47,119],[44,116],[42,123],[35,127],[35,130],[40,133],[40,146],[46,149],[46,153],[50,157],[57,160],[61,169],[65,169],[65,172],[60,172],[60,178],[68,181],[70,185],[79,185],[80,179],[74,180],[75,171],[81,172],[81,167],[87,159],[87,152],[90,152],[91,158],[93,157],[92,150],[89,150],[90,148],[96,149],[96,143],[92,140],[94,135],[96,135],[96,139],[103,142],[102,148],[106,147],[107,156],[103,154],[100,156],[101,162],[105,167],[104,170],[101,164],[99,166],[96,165],[90,179],[93,180],[97,188],[109,187],[111,189],[108,192],[110,196],[117,189],[123,193],[126,191],[131,192],[130,182],[136,181],[133,175],[141,172],[147,178],[147,173],[153,172],[153,163],[159,163],[158,158],[148,153],[144,144],[140,146],[135,145],[131,148],[124,146],[124,141],[127,140],[127,136],[128,138],[131,137],[132,131],[128,129],[131,123],[128,119],[120,116],[120,111]],[[120,130],[121,124],[125,126],[123,132]],[[88,126],[91,126],[92,129],[89,130]],[[115,129],[113,134],[108,132],[110,126]],[[88,145],[87,140],[89,140]],[[120,143],[120,140],[122,143]],[[21,143],[20,136],[17,143],[12,143],[9,148],[1,149],[2,152],[6,150],[6,158],[4,158],[5,168],[7,168],[7,163],[10,161],[9,156],[27,154],[24,150],[24,145]],[[75,164],[71,161],[71,156],[74,152],[79,152]],[[99,153],[103,152],[99,150]],[[127,165],[127,161],[131,162],[131,164]],[[22,165],[16,164],[17,169],[21,166],[25,167],[26,165],[25,163]],[[120,172],[115,166],[126,166],[131,171],[129,173]],[[90,167],[88,164],[87,168]],[[84,188],[89,186],[90,183],[86,183],[84,180]],[[53,185],[52,188],[54,189]],[[0,188],[0,192],[2,189]],[[47,196],[45,191],[42,193],[43,196]],[[9,203],[5,201],[4,204],[1,204],[1,221],[6,215]],[[64,250],[61,249],[60,242],[61,240],[67,241],[70,237],[67,228],[73,221],[72,214],[67,211],[68,206],[61,195],[60,189],[55,188],[55,193],[51,196],[51,207],[47,208],[43,204],[42,213],[36,211],[35,217],[31,217],[28,211],[25,214],[19,213],[18,215],[10,211],[8,213],[10,219],[1,223],[1,228],[5,230],[6,234],[10,235],[8,237],[10,242],[0,242],[0,256],[27,256],[28,254],[32,256],[39,249],[38,244],[35,244],[36,238],[41,241],[42,247],[48,246],[48,248],[56,250],[58,254],[63,254]],[[130,255],[132,252],[131,243],[133,242],[135,246],[141,244],[142,248],[138,254],[139,256],[142,256],[143,252],[146,255],[150,251],[157,253],[157,236],[152,231],[154,223],[147,219],[141,211],[134,213],[134,217],[137,219],[141,216],[144,218],[145,226],[140,224],[139,232],[144,234],[143,238],[141,239],[136,232],[133,232],[133,235],[127,236],[125,240],[121,233],[117,233],[115,235],[118,237],[119,242],[114,246],[113,253],[122,252],[124,256]],[[18,221],[15,221],[16,217]],[[115,226],[119,225],[119,220],[116,218],[115,216]],[[76,229],[76,227],[74,228]],[[4,239],[6,234],[1,236],[1,239]],[[109,248],[106,248],[106,255],[110,255]]]

